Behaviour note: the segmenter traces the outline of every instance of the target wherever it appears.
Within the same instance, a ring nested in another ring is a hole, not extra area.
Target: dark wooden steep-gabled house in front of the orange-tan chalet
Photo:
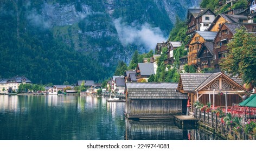
[[[213,64],[213,45],[212,42],[205,42],[202,44],[201,49],[197,53],[197,58],[199,58],[200,63],[199,67],[200,70],[203,70],[203,68],[214,68]]]

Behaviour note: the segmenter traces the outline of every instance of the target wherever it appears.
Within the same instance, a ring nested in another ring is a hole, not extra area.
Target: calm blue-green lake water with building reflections
[[[57,95],[0,95],[0,140],[221,140],[172,121],[126,120],[124,102]]]

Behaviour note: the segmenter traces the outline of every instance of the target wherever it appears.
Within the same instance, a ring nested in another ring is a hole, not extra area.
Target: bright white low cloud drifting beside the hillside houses
[[[141,26],[130,26],[121,23],[121,18],[118,18],[114,20],[114,26],[123,46],[129,44],[143,45],[146,50],[153,50],[156,43],[161,43],[167,39],[159,28],[152,28],[148,23]]]

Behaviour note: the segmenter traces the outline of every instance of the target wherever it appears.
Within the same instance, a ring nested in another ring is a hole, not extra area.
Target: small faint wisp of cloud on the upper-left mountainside
[[[36,12],[36,10],[29,11],[27,15],[27,19],[29,23],[33,26],[42,28],[42,29],[49,29],[50,23],[47,20],[44,20],[43,16]]]

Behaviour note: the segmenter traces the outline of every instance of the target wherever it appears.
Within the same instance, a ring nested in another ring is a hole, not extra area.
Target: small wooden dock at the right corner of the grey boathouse
[[[186,125],[192,125],[195,126],[197,125],[197,122],[199,120],[194,118],[193,116],[189,116],[189,115],[174,115],[174,123],[180,127],[180,128],[184,128],[184,126]]]

